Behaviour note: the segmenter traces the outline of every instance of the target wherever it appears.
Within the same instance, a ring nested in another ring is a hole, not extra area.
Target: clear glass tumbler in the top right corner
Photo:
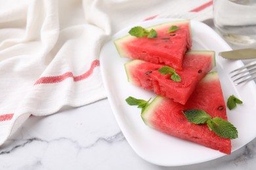
[[[256,0],[213,0],[213,20],[226,41],[256,48]]]

